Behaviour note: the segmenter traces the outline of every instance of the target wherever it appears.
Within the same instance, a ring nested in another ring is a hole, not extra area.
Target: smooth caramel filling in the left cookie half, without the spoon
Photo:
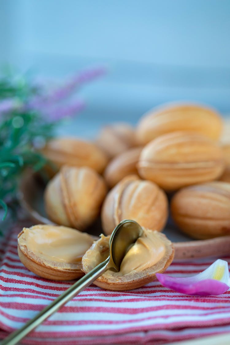
[[[93,239],[86,233],[65,226],[35,225],[23,229],[18,243],[45,261],[76,264],[81,261]]]

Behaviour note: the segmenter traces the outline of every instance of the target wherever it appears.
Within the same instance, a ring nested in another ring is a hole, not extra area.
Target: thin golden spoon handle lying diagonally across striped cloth
[[[29,332],[35,327],[40,325],[44,320],[46,320],[50,315],[57,312],[58,309],[67,303],[74,296],[79,294],[85,287],[89,286],[94,282],[104,271],[108,269],[110,257],[100,263],[98,266],[93,268],[89,273],[79,279],[70,288],[68,288],[63,294],[56,298],[51,304],[44,308],[38,315],[29,320],[24,326],[22,326],[17,331],[11,333],[7,338],[5,338],[1,345],[14,345],[17,344],[22,338],[24,338]]]

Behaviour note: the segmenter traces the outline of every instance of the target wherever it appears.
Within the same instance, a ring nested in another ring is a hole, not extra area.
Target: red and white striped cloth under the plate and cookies
[[[21,327],[66,290],[71,282],[40,278],[24,267],[17,254],[14,227],[0,246],[0,338]],[[225,258],[230,263],[230,257]],[[197,274],[214,259],[173,263],[167,273]],[[31,332],[21,343],[166,344],[230,332],[230,292],[220,296],[182,295],[152,282],[126,292],[90,286]]]

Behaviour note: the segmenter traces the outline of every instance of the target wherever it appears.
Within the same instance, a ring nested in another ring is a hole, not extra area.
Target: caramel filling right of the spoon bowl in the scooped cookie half
[[[143,232],[124,256],[119,275],[143,271],[159,262],[165,252],[164,243],[154,232],[148,232],[148,235]]]

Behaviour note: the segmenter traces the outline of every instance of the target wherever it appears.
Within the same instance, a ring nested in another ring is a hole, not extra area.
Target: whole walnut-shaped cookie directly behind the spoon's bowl
[[[168,200],[164,191],[136,175],[123,178],[110,190],[101,211],[102,228],[107,235],[123,219],[133,219],[142,227],[161,231],[167,217]]]

